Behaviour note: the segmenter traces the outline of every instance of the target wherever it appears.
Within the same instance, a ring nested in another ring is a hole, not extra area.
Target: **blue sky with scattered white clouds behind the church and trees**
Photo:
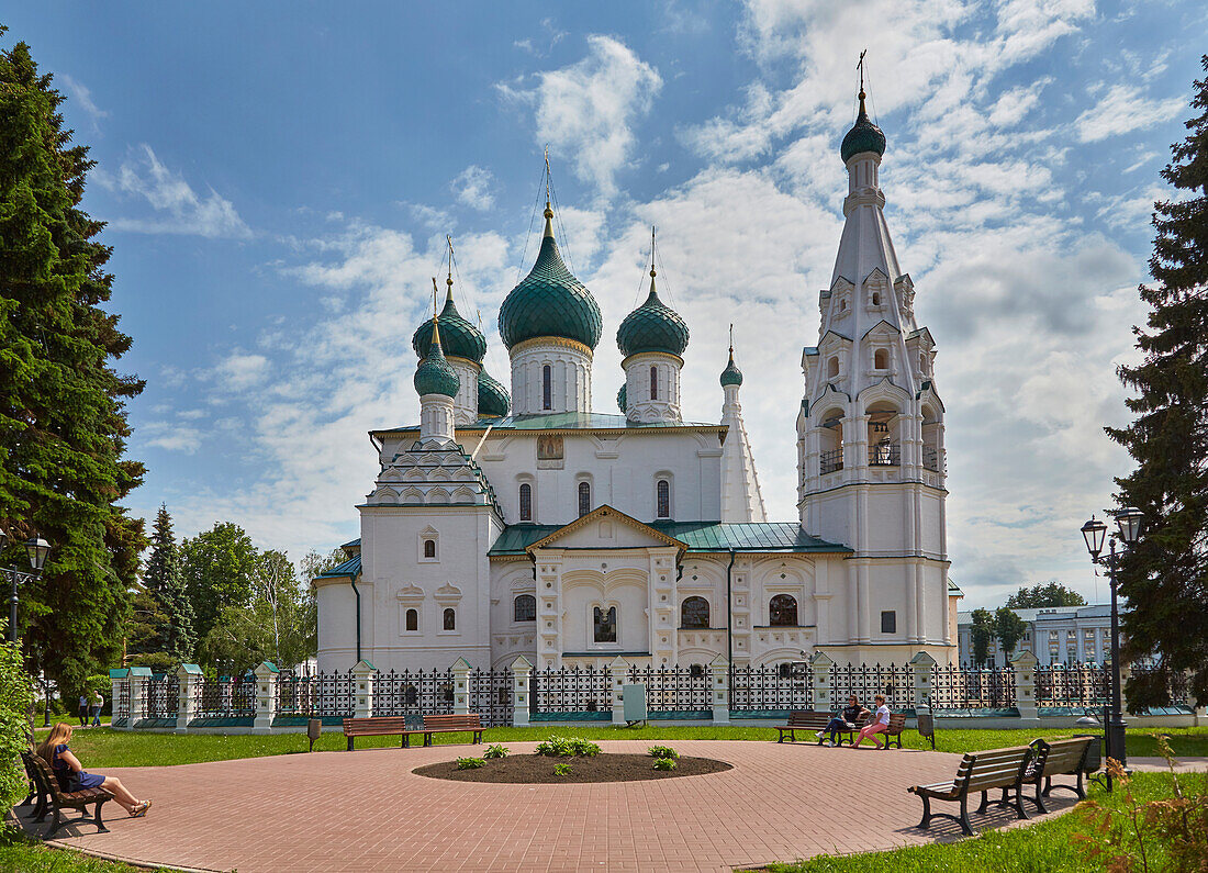
[[[795,518],[800,354],[867,48],[887,215],[939,348],[952,576],[966,606],[1053,577],[1105,595],[1078,526],[1129,466],[1100,429],[1127,420],[1114,367],[1202,4],[45,2],[4,23],[98,162],[85,205],[149,382],[133,507],[295,557],[356,535],[365,431],[417,418],[410,337],[445,233],[506,383],[495,316],[534,255],[545,145],[604,310],[596,407],[615,411],[655,223],[692,331],[685,414],[718,419],[734,321],[765,500]]]

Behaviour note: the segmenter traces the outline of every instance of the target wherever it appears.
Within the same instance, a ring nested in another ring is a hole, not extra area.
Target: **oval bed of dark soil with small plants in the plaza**
[[[570,764],[570,775],[558,776],[554,764]],[[721,773],[730,764],[713,758],[680,758],[674,770],[656,770],[649,755],[597,755],[593,758],[547,758],[542,755],[513,753],[506,758],[488,758],[483,767],[459,770],[457,761],[417,767],[412,773],[432,779],[459,782],[632,782],[639,779],[675,779]]]

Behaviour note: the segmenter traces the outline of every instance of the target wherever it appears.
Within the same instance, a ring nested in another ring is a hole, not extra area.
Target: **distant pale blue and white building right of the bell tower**
[[[1016,651],[1027,650],[1041,664],[1102,663],[1111,652],[1111,607],[1046,606],[1012,610],[1028,625]],[[972,612],[957,613],[957,644],[962,664],[972,664],[970,636]],[[1007,654],[998,640],[991,640],[987,663],[1005,667]]]

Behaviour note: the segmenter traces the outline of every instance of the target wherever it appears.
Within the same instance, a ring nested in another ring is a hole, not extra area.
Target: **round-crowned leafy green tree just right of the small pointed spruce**
[[[257,554],[251,537],[231,522],[215,522],[180,543],[180,570],[198,640],[209,635],[225,607],[251,603]]]

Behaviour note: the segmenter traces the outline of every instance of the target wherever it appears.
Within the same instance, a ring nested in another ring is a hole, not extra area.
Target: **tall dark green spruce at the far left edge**
[[[0,51],[0,525],[54,549],[18,623],[27,668],[70,697],[121,652],[145,545],[120,505],[144,473],[124,405],[144,383],[114,369],[130,338],[103,308],[111,249],[80,209],[93,162],[63,100],[29,46]]]

